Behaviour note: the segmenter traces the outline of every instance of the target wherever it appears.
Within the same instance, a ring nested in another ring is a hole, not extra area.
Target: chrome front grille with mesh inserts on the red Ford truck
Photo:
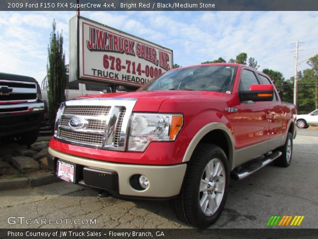
[[[124,151],[135,103],[135,99],[67,101],[57,121],[56,137],[76,145]],[[79,121],[79,126],[72,126],[71,119]]]

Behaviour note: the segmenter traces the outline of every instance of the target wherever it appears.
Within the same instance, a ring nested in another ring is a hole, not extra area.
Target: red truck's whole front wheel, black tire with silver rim
[[[188,164],[178,198],[178,217],[197,228],[207,228],[221,215],[229,187],[228,159],[222,148],[201,144]]]

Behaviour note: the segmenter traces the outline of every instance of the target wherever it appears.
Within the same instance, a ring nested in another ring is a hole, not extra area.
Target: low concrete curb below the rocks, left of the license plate
[[[34,188],[46,184],[62,182],[63,180],[51,175],[51,173],[43,173],[35,176],[28,176],[23,178],[13,178],[0,180],[1,190],[12,190],[19,188]]]

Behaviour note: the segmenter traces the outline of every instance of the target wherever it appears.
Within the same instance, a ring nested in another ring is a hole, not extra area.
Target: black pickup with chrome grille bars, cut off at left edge
[[[32,77],[0,73],[0,141],[31,145],[45,112],[41,89]]]

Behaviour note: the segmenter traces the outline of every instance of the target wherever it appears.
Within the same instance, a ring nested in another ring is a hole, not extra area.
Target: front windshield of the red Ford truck
[[[193,90],[232,93],[236,66],[199,66],[168,71],[139,91]]]

